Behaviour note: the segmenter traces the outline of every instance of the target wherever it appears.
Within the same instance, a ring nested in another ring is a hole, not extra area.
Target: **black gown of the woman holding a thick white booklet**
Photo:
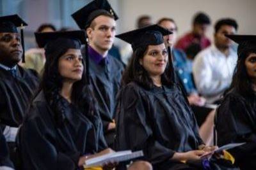
[[[107,148],[99,114],[85,117],[66,100],[63,109],[65,119],[58,127],[43,92],[36,96],[19,132],[23,169],[78,169],[81,155]]]

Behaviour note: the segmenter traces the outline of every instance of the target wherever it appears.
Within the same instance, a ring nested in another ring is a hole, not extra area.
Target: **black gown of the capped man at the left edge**
[[[36,71],[17,66],[17,76],[0,68],[0,124],[19,127],[39,84]]]

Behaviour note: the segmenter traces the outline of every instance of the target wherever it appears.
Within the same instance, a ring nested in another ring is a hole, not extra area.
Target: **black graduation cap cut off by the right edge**
[[[225,35],[238,44],[237,55],[242,57],[244,52],[256,50],[256,35]]]

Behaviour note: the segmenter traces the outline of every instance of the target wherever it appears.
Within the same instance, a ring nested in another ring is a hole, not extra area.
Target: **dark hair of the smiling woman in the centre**
[[[140,65],[140,59],[144,57],[147,50],[148,46],[140,46],[133,52],[131,60],[122,76],[122,86],[127,85],[131,81],[135,81],[145,89],[152,89],[154,87],[154,83],[148,75],[148,72]],[[161,81],[163,85],[170,86],[173,85],[172,80],[172,73],[170,72],[169,64],[167,64],[164,73],[161,75]]]

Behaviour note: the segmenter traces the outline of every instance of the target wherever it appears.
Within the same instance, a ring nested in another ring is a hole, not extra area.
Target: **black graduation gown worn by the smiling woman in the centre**
[[[195,116],[176,85],[145,90],[131,82],[118,94],[118,110],[116,149],[143,150],[156,169],[170,164],[175,152],[203,144]]]

